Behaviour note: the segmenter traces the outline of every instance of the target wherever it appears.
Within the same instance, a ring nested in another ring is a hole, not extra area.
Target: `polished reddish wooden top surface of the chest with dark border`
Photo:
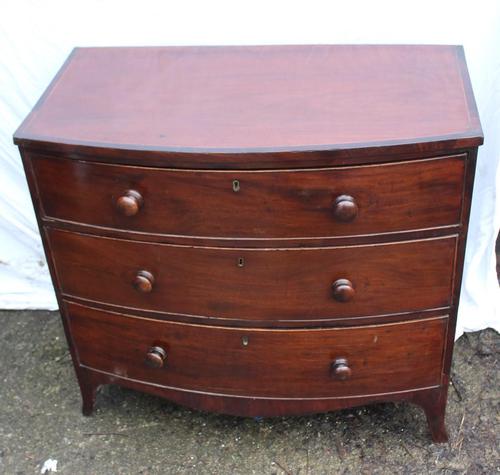
[[[482,143],[458,46],[76,48],[15,135],[194,153],[444,140]]]

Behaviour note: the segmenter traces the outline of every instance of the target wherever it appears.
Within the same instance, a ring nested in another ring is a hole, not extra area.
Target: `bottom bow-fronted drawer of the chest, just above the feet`
[[[66,302],[81,365],[173,389],[257,398],[332,398],[441,383],[447,317],[264,330],[131,317]],[[148,351],[152,347],[160,349]],[[147,365],[162,363],[159,368]]]

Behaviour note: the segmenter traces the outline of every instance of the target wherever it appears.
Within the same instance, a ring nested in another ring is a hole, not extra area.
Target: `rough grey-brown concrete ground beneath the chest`
[[[114,386],[80,412],[59,315],[0,312],[0,473],[323,474],[500,471],[500,336],[457,343],[448,444],[430,441],[423,412],[379,404],[310,417],[244,419],[185,409]]]

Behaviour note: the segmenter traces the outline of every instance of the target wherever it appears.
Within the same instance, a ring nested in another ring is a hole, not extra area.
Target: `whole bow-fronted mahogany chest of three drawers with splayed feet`
[[[15,134],[83,397],[444,427],[477,147],[455,46],[75,49]]]

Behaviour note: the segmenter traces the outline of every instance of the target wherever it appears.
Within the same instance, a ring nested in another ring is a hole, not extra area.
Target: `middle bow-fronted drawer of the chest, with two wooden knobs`
[[[234,249],[47,232],[64,294],[125,307],[215,318],[314,320],[450,304],[454,236],[350,247]]]

